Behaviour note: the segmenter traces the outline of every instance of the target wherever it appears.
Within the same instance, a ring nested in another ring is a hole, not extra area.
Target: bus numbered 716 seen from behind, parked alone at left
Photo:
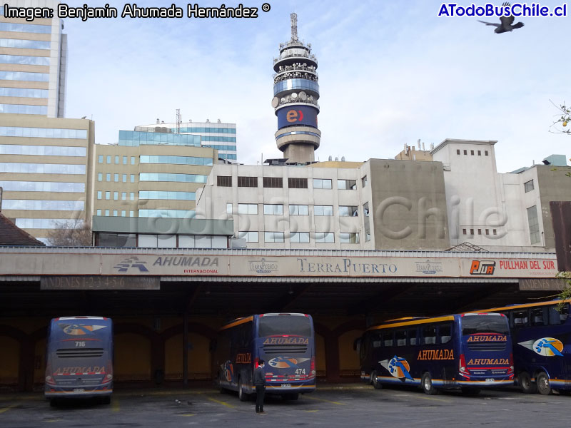
[[[56,399],[101,397],[113,393],[113,323],[106,317],[51,320],[46,349],[44,395]]]

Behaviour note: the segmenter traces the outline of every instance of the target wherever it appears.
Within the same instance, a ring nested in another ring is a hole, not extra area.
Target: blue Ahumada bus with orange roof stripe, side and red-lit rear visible
[[[361,379],[383,384],[420,385],[426,394],[460,387],[514,383],[512,342],[502,314],[465,313],[390,320],[370,327],[356,342]]]

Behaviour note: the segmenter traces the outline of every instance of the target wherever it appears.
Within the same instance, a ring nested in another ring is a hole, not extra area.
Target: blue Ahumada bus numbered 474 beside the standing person
[[[221,327],[214,345],[217,383],[246,401],[256,392],[253,370],[266,362],[266,394],[298,399],[315,390],[315,337],[310,315],[268,313]]]

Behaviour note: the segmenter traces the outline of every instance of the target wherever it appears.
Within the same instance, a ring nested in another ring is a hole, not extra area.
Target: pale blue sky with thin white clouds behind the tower
[[[316,160],[394,158],[405,144],[420,139],[428,149],[446,138],[497,141],[500,173],[571,155],[571,136],[550,132],[554,103],[571,102],[571,2],[565,18],[522,16],[523,28],[495,34],[477,21],[499,23],[495,16],[438,16],[440,1],[268,0],[268,12],[261,0],[241,1],[258,18],[64,19],[66,117],[93,119],[96,143],[108,144],[119,130],[176,122],[178,108],[183,122],[236,123],[240,163],[280,158],[273,58],[290,40],[295,12],[299,39],[318,58]],[[186,12],[177,0],[136,4],[173,2]],[[106,2],[69,4],[85,3]],[[108,3],[119,11],[126,4]]]

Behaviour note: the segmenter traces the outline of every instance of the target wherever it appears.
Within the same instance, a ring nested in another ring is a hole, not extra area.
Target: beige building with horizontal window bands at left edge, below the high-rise
[[[91,221],[94,122],[0,114],[2,213],[46,242]]]

